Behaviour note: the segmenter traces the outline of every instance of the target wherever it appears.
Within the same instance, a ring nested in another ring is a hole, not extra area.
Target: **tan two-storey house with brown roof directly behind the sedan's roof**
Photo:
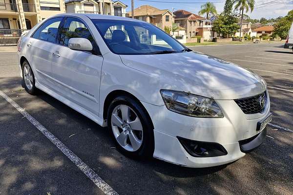
[[[128,14],[131,17],[131,11]],[[134,9],[134,19],[154,24],[163,30],[165,26],[172,26],[172,12],[168,9],[160,10],[150,5],[142,5]]]

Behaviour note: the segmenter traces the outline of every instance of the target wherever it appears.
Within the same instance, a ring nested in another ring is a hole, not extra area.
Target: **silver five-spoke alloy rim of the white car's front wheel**
[[[143,143],[143,126],[137,114],[127,105],[118,105],[111,115],[113,134],[121,147],[137,151]]]

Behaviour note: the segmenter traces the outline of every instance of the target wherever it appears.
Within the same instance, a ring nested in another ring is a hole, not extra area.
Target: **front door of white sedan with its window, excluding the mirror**
[[[59,42],[63,46],[54,47],[54,52],[59,55],[52,60],[52,73],[56,79],[54,91],[99,116],[103,57],[70,49],[70,38],[85,38],[94,44],[94,39],[83,21],[77,18],[66,19]]]

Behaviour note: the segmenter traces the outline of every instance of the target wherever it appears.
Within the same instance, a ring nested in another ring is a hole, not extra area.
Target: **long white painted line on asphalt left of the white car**
[[[100,176],[98,176],[90,167],[88,167],[78,156],[76,156],[69,148],[67,148],[57,137],[50,133],[40,122],[28,114],[15,101],[9,98],[0,90],[0,96],[6,99],[14,108],[16,108],[28,121],[30,121],[45,137],[47,137],[54,145],[63,152],[84,174],[90,178],[105,195],[118,195]]]

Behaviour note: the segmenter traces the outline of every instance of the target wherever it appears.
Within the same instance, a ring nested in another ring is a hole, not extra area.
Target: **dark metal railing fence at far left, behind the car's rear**
[[[21,29],[0,30],[0,46],[16,46],[22,32]]]

